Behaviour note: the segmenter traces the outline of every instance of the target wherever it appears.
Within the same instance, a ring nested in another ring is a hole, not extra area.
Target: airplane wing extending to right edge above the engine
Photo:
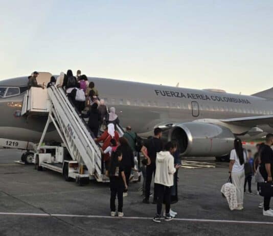
[[[272,125],[273,115],[259,115],[220,120],[226,124],[255,127],[257,125]]]

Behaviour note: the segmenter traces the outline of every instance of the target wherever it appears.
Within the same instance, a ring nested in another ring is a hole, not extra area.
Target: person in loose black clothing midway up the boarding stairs
[[[84,118],[89,117],[87,125],[90,128],[90,130],[93,132],[94,136],[97,138],[98,132],[99,132],[99,126],[101,122],[101,114],[98,110],[98,104],[94,103],[91,106],[91,109],[87,111],[86,115],[82,115],[82,117]]]

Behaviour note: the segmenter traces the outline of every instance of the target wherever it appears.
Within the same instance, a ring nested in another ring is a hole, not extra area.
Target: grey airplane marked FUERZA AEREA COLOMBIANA
[[[51,76],[39,73],[37,81],[46,84]],[[123,127],[130,125],[144,138],[160,127],[163,140],[177,140],[183,156],[226,158],[235,136],[249,140],[273,132],[273,88],[245,96],[96,77],[88,81],[108,107],[116,108]],[[21,115],[27,83],[26,76],[0,81],[0,146],[31,150],[20,142],[28,146],[41,137],[47,116]],[[45,141],[58,140],[51,125]]]

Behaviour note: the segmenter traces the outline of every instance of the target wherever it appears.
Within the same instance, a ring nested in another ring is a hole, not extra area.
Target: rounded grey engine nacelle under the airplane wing
[[[225,127],[189,122],[164,131],[168,141],[176,140],[183,156],[223,156],[234,148],[234,135]]]

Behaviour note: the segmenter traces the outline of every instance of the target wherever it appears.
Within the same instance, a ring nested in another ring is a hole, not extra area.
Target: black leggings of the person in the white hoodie
[[[157,215],[161,216],[162,213],[162,204],[163,201],[166,205],[166,215],[170,213],[170,208],[171,208],[171,187],[167,187],[162,184],[155,183],[154,184],[156,188],[156,196],[157,196]]]

